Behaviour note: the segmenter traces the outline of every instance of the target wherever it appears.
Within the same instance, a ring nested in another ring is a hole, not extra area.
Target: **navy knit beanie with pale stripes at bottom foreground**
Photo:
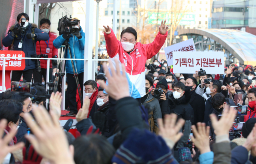
[[[162,137],[146,129],[134,128],[116,151],[112,163],[135,164],[139,160],[145,164],[169,164],[174,159]]]

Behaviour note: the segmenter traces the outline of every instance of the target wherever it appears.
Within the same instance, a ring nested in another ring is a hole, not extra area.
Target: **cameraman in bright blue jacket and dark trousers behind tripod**
[[[77,19],[72,19],[71,21],[78,21],[78,25],[76,25],[76,28],[79,29],[78,34],[71,34],[70,28],[66,27],[64,29],[64,34],[58,36],[54,41],[53,45],[57,49],[61,47],[61,45],[64,43],[66,39],[68,40],[68,43],[70,45],[70,51],[71,54],[69,54],[68,51],[66,51],[66,54],[64,54],[64,57],[66,59],[70,59],[70,55],[72,59],[84,59],[84,32],[82,30],[82,27],[80,26],[80,21]],[[83,82],[84,82],[84,61],[73,61],[74,67],[75,67],[75,73],[78,74],[78,80],[81,87],[81,93],[83,97]],[[89,70],[88,70],[89,71]],[[73,111],[77,111],[76,109],[76,80],[74,77],[74,72],[72,69],[71,61],[66,61],[66,72],[68,75],[68,106],[70,107],[70,113],[68,115],[74,115]],[[82,103],[82,102],[81,102]],[[82,105],[82,104],[81,104]]]

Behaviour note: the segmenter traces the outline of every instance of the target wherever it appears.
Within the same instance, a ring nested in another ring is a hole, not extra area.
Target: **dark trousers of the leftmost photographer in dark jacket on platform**
[[[21,75],[23,74],[23,80],[26,80],[26,82],[31,82],[33,71],[34,71],[34,69],[25,70],[25,71],[13,70],[12,71],[12,81],[19,82]]]

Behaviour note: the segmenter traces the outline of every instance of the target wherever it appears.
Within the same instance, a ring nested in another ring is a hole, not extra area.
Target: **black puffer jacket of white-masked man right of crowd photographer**
[[[184,95],[175,99],[172,93],[168,94],[168,113],[175,113],[179,118],[183,118],[184,120],[190,120],[192,125],[194,124],[194,110],[189,104],[190,101],[190,92],[185,91]]]

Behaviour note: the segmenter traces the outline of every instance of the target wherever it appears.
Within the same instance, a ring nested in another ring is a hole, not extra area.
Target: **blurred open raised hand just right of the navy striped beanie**
[[[176,119],[177,115],[174,113],[170,115],[165,115],[164,123],[163,119],[157,119],[159,126],[159,135],[163,138],[170,139],[174,143],[179,141],[180,137],[183,135],[183,133],[179,131],[185,123],[184,119],[179,119],[176,123]]]

